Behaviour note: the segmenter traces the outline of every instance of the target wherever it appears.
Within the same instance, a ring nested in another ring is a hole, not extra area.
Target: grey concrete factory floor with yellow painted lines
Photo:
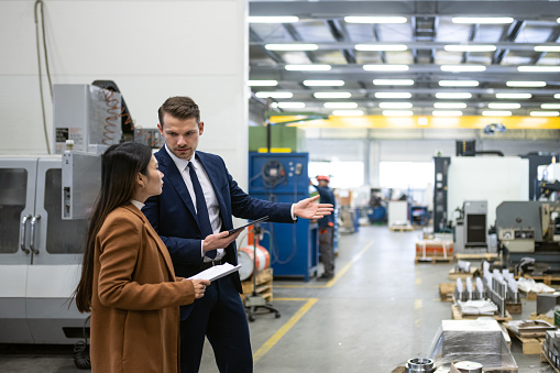
[[[440,321],[451,318],[438,284],[449,282],[451,264],[414,263],[420,231],[391,232],[362,227],[340,237],[337,276],[274,281],[274,306],[282,312],[259,315],[250,322],[257,373],[391,372],[410,358],[424,356]],[[521,315],[535,311],[523,301]],[[519,372],[553,372],[538,355],[524,355],[513,340]],[[83,372],[74,367],[72,349],[0,347],[0,372]],[[209,344],[201,373],[218,372]]]

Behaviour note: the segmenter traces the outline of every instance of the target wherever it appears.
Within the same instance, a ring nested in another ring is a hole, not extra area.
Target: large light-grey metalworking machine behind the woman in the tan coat
[[[99,154],[121,141],[130,119],[114,89],[55,85],[53,141],[64,154],[0,157],[0,343],[64,344],[88,334],[88,315],[70,296],[99,190]],[[67,141],[76,151],[65,151]]]

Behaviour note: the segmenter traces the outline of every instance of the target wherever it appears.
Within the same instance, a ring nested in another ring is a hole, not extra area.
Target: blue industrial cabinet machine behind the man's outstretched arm
[[[308,153],[249,153],[249,194],[275,202],[309,197]],[[295,224],[262,224],[268,232],[261,244],[271,253],[275,276],[317,275],[318,226],[306,219]]]

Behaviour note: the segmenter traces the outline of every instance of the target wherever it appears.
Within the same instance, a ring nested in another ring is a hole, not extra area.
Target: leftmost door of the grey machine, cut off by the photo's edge
[[[36,158],[0,158],[0,343],[29,343],[25,320]]]

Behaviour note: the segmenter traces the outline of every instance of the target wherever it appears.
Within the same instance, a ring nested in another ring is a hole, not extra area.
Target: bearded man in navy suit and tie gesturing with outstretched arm
[[[223,160],[196,151],[205,123],[196,102],[172,97],[158,110],[157,128],[165,145],[155,154],[165,174],[163,193],[142,209],[169,250],[177,276],[190,277],[212,265],[238,263],[235,239],[229,234],[232,216],[294,223],[332,211],[317,197],[296,204],[274,204],[246,195],[229,174]],[[220,372],[253,371],[249,326],[239,293],[239,274],[219,278],[206,296],[180,309],[180,371],[198,372],[205,336]]]

